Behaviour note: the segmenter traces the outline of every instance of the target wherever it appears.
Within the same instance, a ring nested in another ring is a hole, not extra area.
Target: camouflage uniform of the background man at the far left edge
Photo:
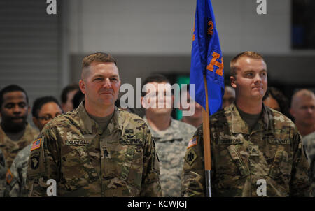
[[[18,152],[29,145],[38,136],[38,133],[38,129],[35,129],[27,124],[22,138],[20,138],[20,140],[11,140],[8,136],[6,136],[6,133],[4,133],[0,126],[0,149],[6,158],[7,168],[10,168],[13,159]]]

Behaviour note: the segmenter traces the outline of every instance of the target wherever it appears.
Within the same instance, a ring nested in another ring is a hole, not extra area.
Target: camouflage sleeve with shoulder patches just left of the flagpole
[[[202,126],[197,129],[193,139],[188,143],[181,178],[181,196],[206,195]]]

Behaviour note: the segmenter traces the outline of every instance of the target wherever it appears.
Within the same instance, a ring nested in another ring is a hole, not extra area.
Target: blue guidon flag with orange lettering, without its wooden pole
[[[224,95],[223,57],[210,0],[197,0],[190,84],[195,84],[195,101],[206,109],[204,75],[207,77],[209,115],[222,107]]]

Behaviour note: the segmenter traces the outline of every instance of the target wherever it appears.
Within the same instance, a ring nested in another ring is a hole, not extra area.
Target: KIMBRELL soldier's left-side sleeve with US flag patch
[[[58,183],[58,155],[57,138],[46,124],[31,146],[27,167],[29,196],[47,196],[49,185],[46,182],[54,179]]]

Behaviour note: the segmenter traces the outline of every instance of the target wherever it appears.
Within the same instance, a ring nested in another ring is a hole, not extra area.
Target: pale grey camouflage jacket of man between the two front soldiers
[[[146,117],[144,120],[147,122]],[[155,140],[160,159],[162,196],[181,196],[181,170],[188,142],[196,131],[194,126],[172,119],[165,131],[154,131],[148,124]]]

